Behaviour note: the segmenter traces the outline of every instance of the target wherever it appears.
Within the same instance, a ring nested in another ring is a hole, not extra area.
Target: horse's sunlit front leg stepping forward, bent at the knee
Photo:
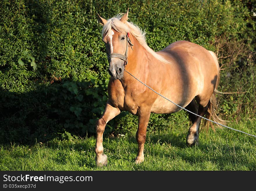
[[[109,103],[107,103],[104,114],[101,118],[99,118],[96,124],[96,146],[95,146],[95,162],[98,167],[102,167],[103,165],[107,164],[107,156],[104,154],[103,151],[103,133],[105,130],[105,126],[107,122],[113,119],[115,116],[120,114],[120,110],[118,108],[112,107]]]

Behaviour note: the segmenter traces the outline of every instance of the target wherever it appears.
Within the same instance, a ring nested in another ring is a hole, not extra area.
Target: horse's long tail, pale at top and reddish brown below
[[[216,114],[216,110],[218,109],[218,105],[217,105],[215,94],[218,92],[217,88],[218,88],[218,84],[219,84],[219,80],[220,80],[220,66],[219,66],[218,58],[217,58],[216,54],[214,52],[212,52],[212,51],[209,51],[209,52],[210,52],[211,56],[214,58],[215,64],[217,65],[218,74],[217,74],[217,80],[216,80],[216,85],[215,85],[215,88],[214,88],[214,92],[211,95],[210,104],[209,104],[207,113],[205,115],[205,118],[210,119],[210,120],[212,120],[214,122],[217,122],[217,123],[220,123],[220,124],[224,125],[226,123],[226,121],[221,119]],[[211,126],[211,128],[215,131],[213,123],[208,121],[208,120],[204,120],[203,128],[205,128],[208,131],[209,126]],[[217,124],[217,126],[221,127],[218,124]]]

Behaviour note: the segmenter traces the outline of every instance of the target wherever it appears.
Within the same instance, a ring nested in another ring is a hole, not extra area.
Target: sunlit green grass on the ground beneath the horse
[[[230,127],[255,135],[256,119]],[[145,161],[136,165],[135,132],[104,138],[106,167],[95,165],[95,138],[51,140],[30,145],[1,145],[0,170],[256,170],[256,138],[227,128],[202,131],[200,144],[186,147],[188,127],[148,132]]]

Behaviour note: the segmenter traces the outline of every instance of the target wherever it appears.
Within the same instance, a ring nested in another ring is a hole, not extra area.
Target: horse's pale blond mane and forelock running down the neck
[[[154,50],[152,50],[146,42],[145,32],[143,32],[137,25],[132,22],[126,21],[125,24],[120,21],[122,14],[118,14],[115,17],[108,19],[106,24],[102,29],[102,38],[105,36],[111,35],[111,28],[118,32],[128,32],[131,33],[136,40],[145,48],[145,50],[151,53],[157,60],[163,63],[170,63],[168,60],[164,59],[161,55],[157,54]]]

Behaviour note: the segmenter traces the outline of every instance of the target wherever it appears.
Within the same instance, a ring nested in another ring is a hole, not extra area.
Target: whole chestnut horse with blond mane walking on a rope
[[[102,145],[106,123],[121,111],[138,116],[138,154],[135,159],[138,164],[144,161],[150,113],[175,113],[181,110],[130,74],[179,106],[200,116],[211,117],[216,122],[221,120],[214,110],[214,90],[219,81],[219,64],[215,53],[187,41],[174,42],[155,52],[147,46],[145,34],[140,28],[127,22],[128,10],[122,17],[118,15],[108,20],[97,15],[99,23],[103,25],[102,40],[106,44],[111,75],[106,108],[96,124],[97,166],[107,164]],[[201,118],[193,114],[190,114],[190,119],[193,124],[186,136],[189,146],[197,144],[201,122]]]

